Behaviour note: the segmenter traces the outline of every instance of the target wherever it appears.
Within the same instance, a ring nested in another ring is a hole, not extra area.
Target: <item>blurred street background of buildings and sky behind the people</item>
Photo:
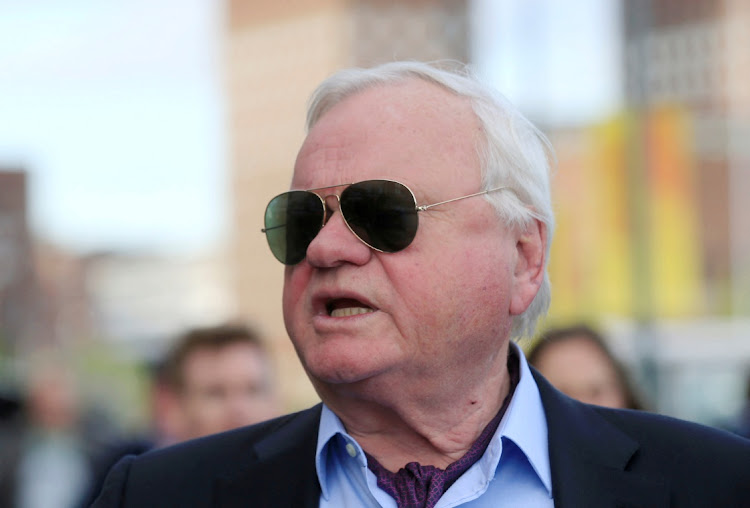
[[[53,358],[91,421],[143,427],[144,365],[227,321],[261,330],[287,410],[314,403],[260,232],[307,98],[341,67],[454,59],[557,151],[541,325],[600,328],[653,410],[726,424],[750,375],[748,26],[744,0],[0,0],[2,413]]]

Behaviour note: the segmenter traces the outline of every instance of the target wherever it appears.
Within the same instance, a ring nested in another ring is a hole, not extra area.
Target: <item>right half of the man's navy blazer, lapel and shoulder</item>
[[[750,441],[667,416],[584,404],[532,373],[561,506],[591,506],[592,478],[599,494],[619,489],[618,496],[637,499],[637,506],[663,506],[659,490],[673,506],[742,506],[738,500],[750,499]],[[650,499],[638,494],[647,486]]]

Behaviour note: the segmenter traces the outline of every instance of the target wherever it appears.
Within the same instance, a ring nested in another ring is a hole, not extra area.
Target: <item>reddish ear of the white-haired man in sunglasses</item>
[[[532,219],[516,239],[516,265],[513,271],[513,295],[510,313],[522,314],[539,291],[544,280],[547,255],[547,225]]]

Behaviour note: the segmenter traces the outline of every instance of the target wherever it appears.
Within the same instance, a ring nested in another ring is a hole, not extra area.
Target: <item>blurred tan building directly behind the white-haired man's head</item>
[[[332,72],[394,59],[468,60],[467,1],[231,0],[227,86],[238,311],[273,339],[290,408],[315,397],[281,315],[283,267],[268,251],[263,212],[289,188],[306,101]]]

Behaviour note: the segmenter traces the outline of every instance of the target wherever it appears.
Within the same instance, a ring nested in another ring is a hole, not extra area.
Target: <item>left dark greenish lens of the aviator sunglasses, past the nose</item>
[[[312,192],[291,191],[273,198],[266,207],[266,239],[276,259],[296,265],[323,227],[325,210]]]

